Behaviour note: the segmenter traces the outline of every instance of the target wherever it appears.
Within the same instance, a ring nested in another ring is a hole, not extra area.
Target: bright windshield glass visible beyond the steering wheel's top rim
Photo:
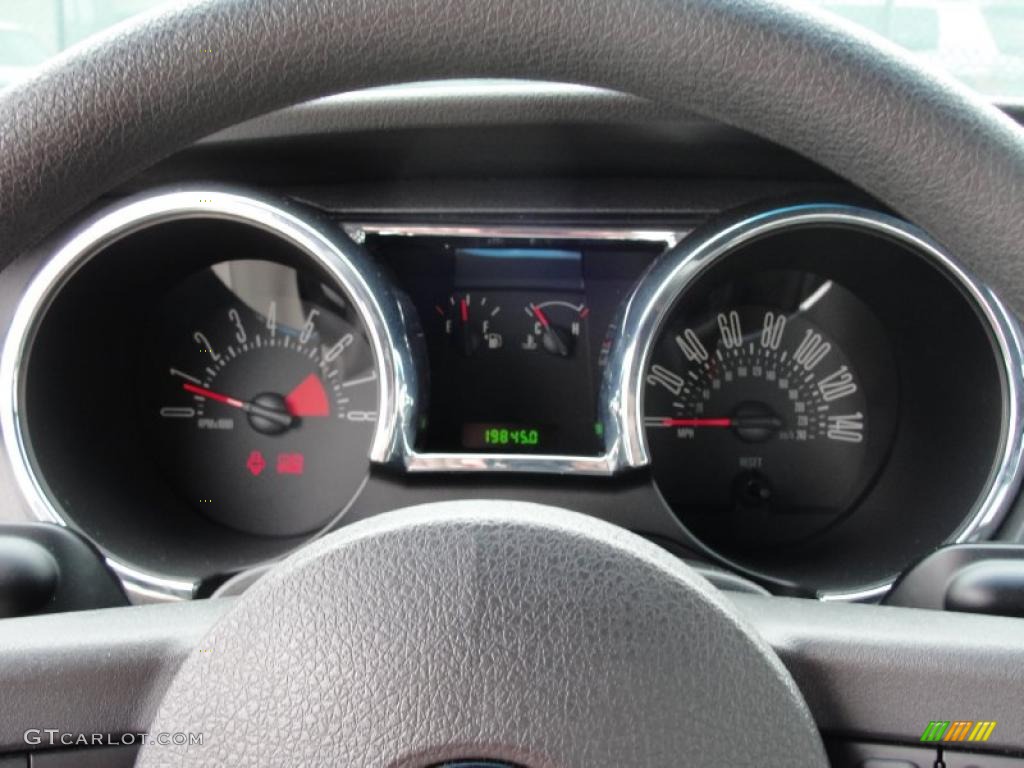
[[[0,86],[165,0],[4,0]],[[1022,0],[810,0],[996,100],[1024,99]]]

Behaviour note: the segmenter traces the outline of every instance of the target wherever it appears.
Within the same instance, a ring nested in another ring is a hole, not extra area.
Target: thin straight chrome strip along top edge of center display
[[[520,224],[484,225],[472,224],[409,224],[409,223],[350,223],[345,224],[345,232],[356,243],[361,243],[367,234],[381,234],[398,238],[509,238],[524,240],[602,240],[624,243],[665,243],[674,248],[691,229],[633,229],[629,227],[587,226],[534,226]]]

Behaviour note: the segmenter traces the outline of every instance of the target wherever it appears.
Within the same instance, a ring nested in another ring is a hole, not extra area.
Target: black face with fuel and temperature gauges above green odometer
[[[600,450],[582,295],[462,291],[433,314],[432,450]]]

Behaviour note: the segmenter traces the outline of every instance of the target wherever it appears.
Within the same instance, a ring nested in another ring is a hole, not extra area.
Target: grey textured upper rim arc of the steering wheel
[[[13,258],[118,181],[242,120],[449,77],[569,81],[685,104],[821,162],[1024,306],[1024,140],[894,48],[765,0],[220,0],[69,52],[0,96]]]

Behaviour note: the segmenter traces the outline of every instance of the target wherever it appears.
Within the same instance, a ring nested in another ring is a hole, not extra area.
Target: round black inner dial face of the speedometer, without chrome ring
[[[666,499],[726,551],[792,543],[852,509],[891,439],[878,321],[842,286],[762,272],[676,309],[646,371]]]

